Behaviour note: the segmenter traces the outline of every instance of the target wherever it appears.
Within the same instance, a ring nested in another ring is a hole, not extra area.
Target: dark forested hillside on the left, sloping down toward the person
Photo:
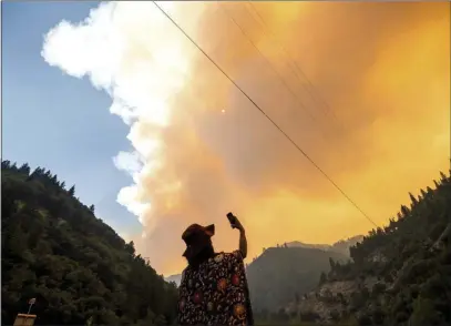
[[[135,255],[50,171],[2,161],[2,325],[152,325],[176,316],[176,287]]]

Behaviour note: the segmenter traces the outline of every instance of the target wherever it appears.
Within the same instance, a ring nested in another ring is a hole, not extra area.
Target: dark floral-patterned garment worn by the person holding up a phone
[[[243,256],[219,253],[197,269],[186,267],[178,300],[180,325],[252,325]]]

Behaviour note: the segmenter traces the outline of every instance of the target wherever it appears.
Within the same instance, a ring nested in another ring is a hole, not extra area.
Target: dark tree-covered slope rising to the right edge
[[[287,309],[301,320],[451,325],[451,177],[410,194],[389,225],[332,264],[321,286]]]

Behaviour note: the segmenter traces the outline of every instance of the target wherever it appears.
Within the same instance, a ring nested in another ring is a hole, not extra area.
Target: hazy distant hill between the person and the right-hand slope
[[[316,248],[268,248],[247,267],[253,307],[256,313],[276,312],[318,285],[330,258],[346,262],[345,255]]]

